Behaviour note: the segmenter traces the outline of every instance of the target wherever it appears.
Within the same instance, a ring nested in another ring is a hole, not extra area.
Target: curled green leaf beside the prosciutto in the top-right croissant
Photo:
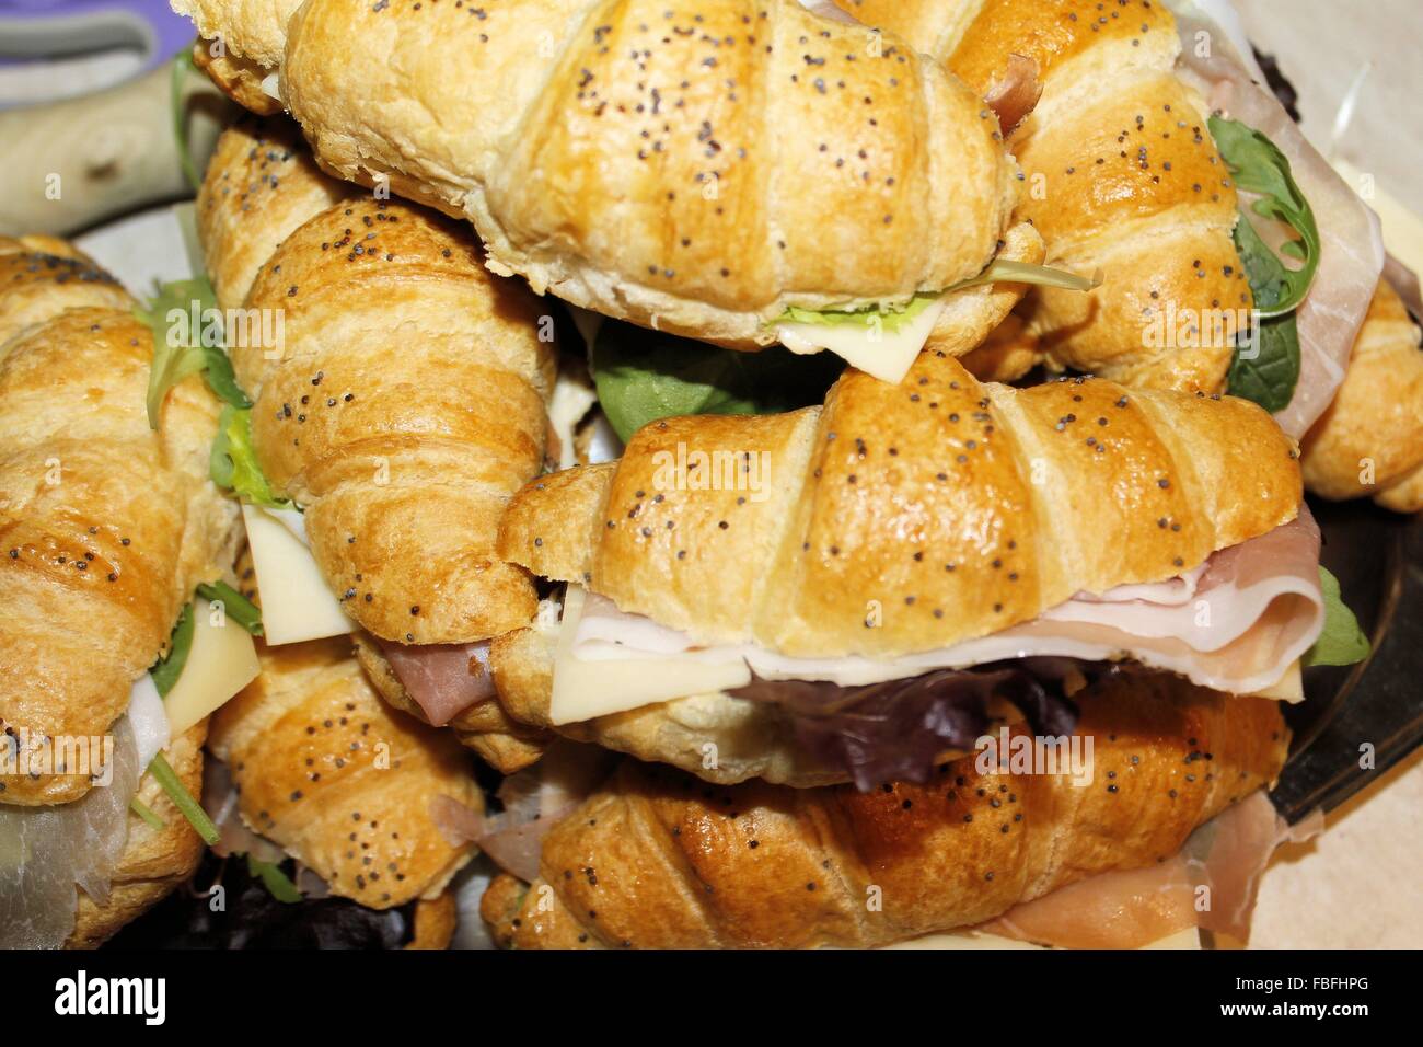
[[[1259,194],[1259,199],[1251,205],[1251,209],[1262,218],[1285,222],[1299,235],[1299,239],[1281,246],[1282,254],[1303,262],[1299,269],[1279,265],[1278,271],[1271,274],[1278,285],[1262,285],[1261,288],[1255,286],[1255,274],[1251,274],[1251,289],[1257,292],[1255,308],[1261,309],[1264,318],[1292,312],[1305,301],[1309,285],[1315,279],[1315,271],[1319,268],[1321,245],[1315,212],[1289,172],[1289,160],[1269,138],[1238,120],[1211,117],[1208,123],[1221,158],[1235,178],[1237,188]],[[1241,215],[1237,229],[1245,224],[1248,219]],[[1257,235],[1255,239],[1258,242],[1259,236]],[[1237,236],[1238,245],[1239,238]],[[1264,242],[1259,242],[1259,249],[1268,254]]]

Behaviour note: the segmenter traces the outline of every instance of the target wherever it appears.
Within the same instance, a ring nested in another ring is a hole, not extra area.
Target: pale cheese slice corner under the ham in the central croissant
[[[741,660],[703,664],[686,657],[639,658],[629,661],[581,661],[573,657],[578,621],[583,614],[583,587],[569,585],[564,597],[564,623],[554,660],[554,724],[581,724],[610,712],[687,695],[727,691],[751,682],[751,670]]]

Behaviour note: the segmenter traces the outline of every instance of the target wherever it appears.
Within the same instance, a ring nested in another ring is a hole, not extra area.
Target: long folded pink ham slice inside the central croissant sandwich
[[[790,658],[754,644],[700,647],[687,634],[625,614],[595,594],[583,605],[573,655],[581,661],[744,660],[761,679],[830,681],[841,687],[1043,655],[1133,658],[1201,687],[1252,694],[1275,685],[1313,645],[1323,618],[1319,528],[1301,504],[1291,523],[1214,553],[1190,574],[1100,594],[1080,593],[1033,621],[902,658]]]

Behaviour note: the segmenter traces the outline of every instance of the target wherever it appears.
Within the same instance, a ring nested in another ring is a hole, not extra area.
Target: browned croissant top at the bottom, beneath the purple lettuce
[[[481,912],[518,949],[888,944],[1164,860],[1285,761],[1271,701],[1143,674],[1080,697],[1090,783],[966,758],[922,786],[710,788],[628,761]]]

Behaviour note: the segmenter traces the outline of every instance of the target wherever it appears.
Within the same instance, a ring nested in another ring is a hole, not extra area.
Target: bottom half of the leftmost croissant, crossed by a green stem
[[[189,796],[202,795],[202,742],[206,735],[208,721],[202,719],[164,751]],[[102,944],[192,876],[202,859],[202,838],[151,773],[139,778],[137,799],[162,822],[162,828],[132,812],[128,815],[128,839],[114,869],[108,900],[98,903],[80,892],[74,930],[65,949]]]

